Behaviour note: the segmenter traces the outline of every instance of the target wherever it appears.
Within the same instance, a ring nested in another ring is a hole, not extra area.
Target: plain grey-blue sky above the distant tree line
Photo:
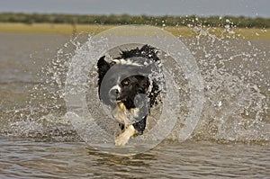
[[[0,0],[0,13],[6,12],[270,18],[270,0]]]

